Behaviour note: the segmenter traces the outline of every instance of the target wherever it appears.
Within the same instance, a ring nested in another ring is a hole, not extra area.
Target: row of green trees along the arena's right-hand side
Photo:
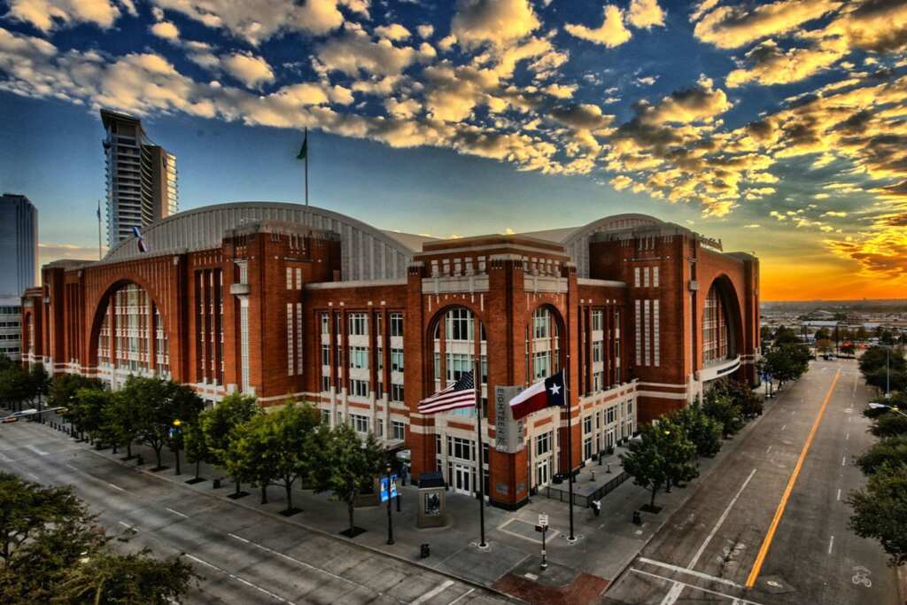
[[[722,439],[736,434],[746,418],[762,414],[762,401],[746,384],[723,378],[703,402],[673,410],[645,425],[621,455],[624,471],[651,493],[649,508],[662,489],[681,487],[699,476],[697,461],[721,450]]]

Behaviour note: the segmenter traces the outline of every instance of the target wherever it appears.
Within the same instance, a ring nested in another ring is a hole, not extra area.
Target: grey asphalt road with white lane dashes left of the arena
[[[204,577],[188,602],[507,602],[467,582],[137,472],[46,425],[0,425],[0,469],[73,485],[123,549],[184,552]]]

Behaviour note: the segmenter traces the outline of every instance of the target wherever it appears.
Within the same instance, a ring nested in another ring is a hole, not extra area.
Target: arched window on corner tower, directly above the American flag
[[[479,324],[479,342],[475,341],[476,324]],[[434,392],[452,385],[460,376],[473,369],[476,348],[482,364],[482,406],[488,409],[488,354],[485,328],[476,320],[473,311],[466,307],[451,307],[434,325]],[[448,414],[472,415],[472,408],[453,410]]]

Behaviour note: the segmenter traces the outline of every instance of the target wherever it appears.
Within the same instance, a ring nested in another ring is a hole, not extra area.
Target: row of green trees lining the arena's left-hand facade
[[[188,386],[142,376],[130,376],[113,392],[94,378],[59,375],[49,393],[48,401],[64,408],[75,434],[124,446],[129,458],[132,444],[147,445],[155,470],[163,468],[164,448],[178,456],[185,451],[196,479],[201,464],[219,467],[233,479],[237,496],[246,483],[260,488],[267,503],[268,487],[283,488],[286,514],[297,512],[298,485],[333,493],[346,504],[350,532],[359,496],[374,489],[375,477],[389,463],[374,435],[363,439],[348,424],[321,424],[312,405],[288,402],[266,412],[254,396],[232,394],[206,408]]]

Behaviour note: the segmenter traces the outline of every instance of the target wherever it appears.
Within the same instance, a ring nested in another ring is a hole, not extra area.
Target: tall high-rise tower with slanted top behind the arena
[[[179,210],[176,156],[155,145],[141,120],[101,110],[107,157],[107,245]]]

